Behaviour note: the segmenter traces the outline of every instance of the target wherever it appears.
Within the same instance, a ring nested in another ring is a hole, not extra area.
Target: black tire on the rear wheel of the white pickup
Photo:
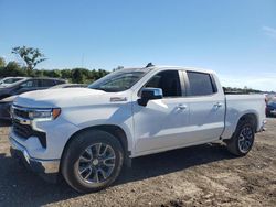
[[[242,144],[243,137],[242,135],[245,131],[247,131],[248,134],[251,134],[251,135],[248,135],[248,138],[245,138],[245,135],[244,135],[244,140],[245,140],[244,142],[246,142],[246,140],[247,140],[250,142],[250,144],[246,144],[245,146],[247,146],[247,145],[248,146],[246,148],[246,150],[245,149],[243,150],[243,148],[242,148],[243,146],[243,144]],[[236,156],[244,156],[251,151],[251,149],[254,144],[254,139],[255,139],[254,123],[251,120],[241,120],[237,123],[237,127],[236,127],[234,134],[232,135],[232,138],[230,140],[225,140],[225,143],[226,143],[227,150],[232,154],[234,154]]]

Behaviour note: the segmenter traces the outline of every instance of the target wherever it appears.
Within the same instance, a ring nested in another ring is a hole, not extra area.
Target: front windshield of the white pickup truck
[[[88,86],[106,92],[118,92],[131,88],[148,69],[120,69],[114,72]]]

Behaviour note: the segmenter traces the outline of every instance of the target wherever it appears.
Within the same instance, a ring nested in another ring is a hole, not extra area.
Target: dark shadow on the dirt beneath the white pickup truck
[[[230,159],[234,156],[221,144],[203,144],[142,156],[135,159],[132,167],[125,168],[110,188]],[[59,184],[44,182],[9,154],[0,153],[0,206],[41,206],[82,196],[71,189],[64,181]],[[108,189],[95,194],[105,199]]]

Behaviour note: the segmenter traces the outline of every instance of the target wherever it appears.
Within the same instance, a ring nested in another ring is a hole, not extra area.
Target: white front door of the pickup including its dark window
[[[189,124],[189,106],[183,96],[180,72],[163,70],[144,87],[161,88],[163,98],[146,107],[134,102],[136,153],[169,149],[183,143]]]

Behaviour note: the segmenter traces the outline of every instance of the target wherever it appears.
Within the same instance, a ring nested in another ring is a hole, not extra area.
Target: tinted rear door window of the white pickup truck
[[[206,96],[216,92],[210,74],[187,72],[190,83],[190,96]]]

